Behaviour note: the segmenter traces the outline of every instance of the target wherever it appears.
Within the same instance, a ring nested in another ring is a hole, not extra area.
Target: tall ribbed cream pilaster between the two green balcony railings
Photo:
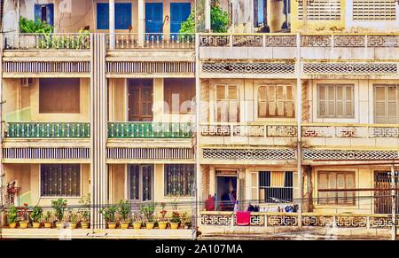
[[[99,209],[108,204],[106,36],[91,35],[90,182],[92,228],[104,228]]]

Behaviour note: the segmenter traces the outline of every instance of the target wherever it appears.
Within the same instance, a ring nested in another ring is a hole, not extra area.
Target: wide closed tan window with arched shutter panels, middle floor
[[[259,86],[258,117],[294,117],[293,86]]]

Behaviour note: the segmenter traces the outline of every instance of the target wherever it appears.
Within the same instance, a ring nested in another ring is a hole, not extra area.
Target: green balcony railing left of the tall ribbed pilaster
[[[90,137],[89,122],[8,122],[8,138],[84,138]]]

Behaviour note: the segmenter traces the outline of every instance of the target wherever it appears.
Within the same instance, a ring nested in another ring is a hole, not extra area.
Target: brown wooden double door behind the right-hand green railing
[[[129,121],[153,121],[153,79],[129,79]]]

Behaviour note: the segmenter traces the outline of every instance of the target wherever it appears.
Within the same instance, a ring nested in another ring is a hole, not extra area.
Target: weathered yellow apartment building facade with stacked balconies
[[[214,34],[209,1],[8,1],[4,203],[50,208],[62,197],[74,206],[90,193],[90,234],[112,238],[299,226],[390,234],[399,4],[246,2],[220,1],[230,26]],[[179,34],[192,11],[203,29]],[[20,16],[54,33],[21,33]],[[106,229],[100,207],[120,199],[134,212],[167,203],[192,227]],[[249,204],[260,211],[235,226],[234,209]]]

